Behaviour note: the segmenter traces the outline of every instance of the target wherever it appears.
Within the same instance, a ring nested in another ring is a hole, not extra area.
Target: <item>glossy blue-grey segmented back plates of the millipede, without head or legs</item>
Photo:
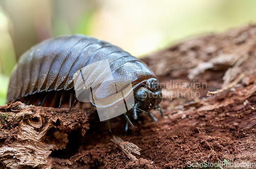
[[[98,98],[115,94],[131,83],[136,88],[155,77],[143,62],[113,44],[80,34],[60,36],[34,45],[20,57],[10,77],[7,102],[41,92],[74,90],[75,73],[105,59],[117,88],[104,86]],[[90,67],[88,73],[93,69]],[[85,80],[93,83],[106,78],[102,71]]]

